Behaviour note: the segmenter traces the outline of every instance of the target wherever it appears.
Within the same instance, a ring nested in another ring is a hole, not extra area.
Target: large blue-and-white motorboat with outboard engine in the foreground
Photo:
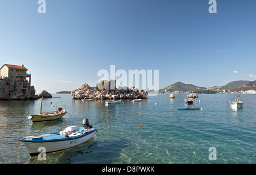
[[[97,130],[89,125],[88,119],[82,121],[84,127],[69,126],[64,130],[37,136],[26,136],[20,139],[26,146],[30,156],[37,156],[45,149],[46,153],[65,150],[93,138]]]

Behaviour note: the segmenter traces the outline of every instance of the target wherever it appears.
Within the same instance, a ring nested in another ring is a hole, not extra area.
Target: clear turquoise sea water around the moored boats
[[[27,116],[39,113],[40,100],[0,101],[0,163],[12,159],[12,163],[32,164],[256,163],[256,95],[241,95],[244,104],[238,110],[229,108],[234,95],[199,95],[189,106],[200,110],[177,110],[185,106],[186,95],[175,96],[148,96],[137,103],[123,100],[122,104],[105,106],[104,100],[83,102],[73,100],[69,94],[53,94],[62,97],[68,114],[55,121],[36,123],[27,121]],[[51,101],[59,104],[60,100],[44,99],[43,111],[55,109]],[[100,136],[49,153],[46,160],[30,157],[18,142],[23,136],[81,126],[84,118],[89,118]],[[209,160],[210,147],[216,148],[217,160]]]

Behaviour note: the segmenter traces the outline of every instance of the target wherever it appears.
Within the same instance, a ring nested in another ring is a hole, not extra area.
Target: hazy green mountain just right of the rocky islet
[[[191,91],[203,90],[203,89],[206,89],[206,88],[195,86],[193,84],[185,84],[185,83],[181,83],[181,82],[176,82],[174,84],[171,84],[170,86],[167,86],[166,88],[160,89],[159,93],[164,93],[166,91],[168,91],[168,92],[174,92],[174,91],[191,92]]]

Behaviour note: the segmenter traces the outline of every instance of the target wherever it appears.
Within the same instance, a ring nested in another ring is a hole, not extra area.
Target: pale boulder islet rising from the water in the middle
[[[73,99],[97,99],[97,100],[120,100],[120,99],[147,99],[147,91],[132,87],[130,89],[119,87],[114,89],[93,90],[88,84],[83,84],[81,88],[71,91]]]

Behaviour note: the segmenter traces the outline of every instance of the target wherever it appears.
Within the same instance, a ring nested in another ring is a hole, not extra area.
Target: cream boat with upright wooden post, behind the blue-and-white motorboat
[[[31,120],[32,122],[50,121],[50,120],[54,120],[54,119],[59,119],[59,118],[65,116],[65,114],[67,114],[66,109],[63,109],[63,108],[57,109],[57,105],[56,105],[55,111],[42,112],[42,102],[43,102],[43,97],[42,97],[41,105],[40,105],[40,113],[28,115],[28,117],[27,117],[28,120]]]

